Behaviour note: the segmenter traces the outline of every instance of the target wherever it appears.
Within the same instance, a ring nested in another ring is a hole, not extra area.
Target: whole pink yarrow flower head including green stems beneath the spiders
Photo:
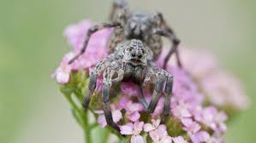
[[[90,105],[93,116],[88,116],[81,107],[82,99],[87,91],[88,78],[94,66],[108,56],[106,43],[111,29],[98,31],[92,35],[86,53],[74,63],[68,60],[80,52],[86,31],[92,26],[89,20],[68,26],[64,36],[68,39],[72,51],[64,55],[63,61],[52,77],[61,84],[73,108],[74,117],[86,131],[92,129],[90,121],[97,121],[100,127],[107,129],[104,112],[101,106],[101,94],[95,92]],[[170,117],[164,121],[164,98],[158,100],[152,114],[137,100],[138,87],[134,83],[121,83],[111,89],[112,117],[121,131],[120,140],[132,143],[222,143],[223,134],[227,131],[226,106],[232,109],[246,109],[247,96],[238,80],[224,72],[213,55],[195,49],[179,48],[184,69],[178,68],[174,61],[168,63],[166,71],[174,77],[174,87],[170,98]],[[162,52],[156,64],[164,63]],[[228,87],[226,85],[229,85]],[[98,77],[97,91],[101,90],[102,77]],[[150,86],[144,89],[147,104],[152,98]],[[74,95],[77,100],[74,101]],[[239,99],[239,100],[235,100]],[[207,104],[205,104],[207,103]],[[78,105],[77,105],[78,104]],[[232,115],[229,115],[232,117]],[[163,122],[164,121],[164,122]]]

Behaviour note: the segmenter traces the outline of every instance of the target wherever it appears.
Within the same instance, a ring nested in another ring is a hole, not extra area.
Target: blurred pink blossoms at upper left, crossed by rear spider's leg
[[[82,20],[78,24],[68,26],[64,32],[68,43],[74,48],[74,54],[78,54],[83,46],[86,38],[86,32],[92,26],[92,22]],[[100,60],[103,60],[107,55],[106,43],[110,36],[111,29],[105,29],[95,32],[86,47],[86,52],[80,56],[76,62],[77,66],[72,68],[78,70],[79,68],[91,68],[95,66]],[[74,57],[74,56],[73,56]],[[73,65],[73,64],[72,64]]]

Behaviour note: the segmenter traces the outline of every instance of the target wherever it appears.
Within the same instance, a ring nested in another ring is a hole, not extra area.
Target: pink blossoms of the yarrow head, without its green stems
[[[86,37],[86,31],[90,26],[92,26],[90,21],[83,20],[78,24],[69,26],[64,32],[65,37],[68,38],[68,43],[74,50],[64,56],[61,66],[53,74],[57,83],[68,83],[70,74],[78,69],[90,71],[98,61],[103,60],[108,55],[105,47],[110,36],[110,29],[94,34],[86,53],[72,65],[68,65],[68,60],[80,51]],[[163,57],[164,54],[157,61],[158,66],[163,65]],[[121,134],[130,135],[132,143],[146,142],[145,134],[149,135],[151,140],[156,143],[187,143],[188,141],[193,143],[222,143],[222,136],[227,130],[225,124],[227,116],[224,112],[218,111],[214,105],[229,103],[234,104],[237,108],[244,108],[245,106],[240,105],[239,101],[235,100],[236,97],[240,97],[239,99],[244,102],[243,105],[247,104],[245,103],[247,100],[243,96],[241,97],[242,91],[240,91],[239,83],[234,78],[225,77],[223,73],[218,72],[220,70],[211,56],[200,52],[193,53],[192,49],[191,51],[182,49],[181,57],[185,70],[176,67],[171,62],[167,66],[167,71],[174,77],[170,112],[171,118],[176,119],[174,121],[187,134],[170,136],[169,131],[172,126],[160,123],[164,110],[164,98],[158,101],[155,112],[152,115],[147,115],[147,120],[145,120],[145,117],[142,117],[145,116],[142,113],[146,113],[144,107],[138,100],[134,100],[134,97],[139,94],[136,85],[134,83],[122,83],[120,91],[122,98],[111,105],[111,110],[114,122],[120,125]],[[231,88],[226,87],[227,84]],[[98,87],[100,87],[100,83]],[[224,89],[225,92],[221,89]],[[203,106],[205,94],[199,90],[204,90],[209,94],[206,98],[213,100],[212,106]],[[146,100],[148,103],[151,100],[149,90],[146,91]],[[106,121],[103,111],[95,111],[95,113],[98,114],[99,125],[104,128]],[[148,123],[148,121],[151,122]]]

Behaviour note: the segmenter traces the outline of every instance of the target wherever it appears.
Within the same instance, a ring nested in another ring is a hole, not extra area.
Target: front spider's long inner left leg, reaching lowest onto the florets
[[[118,125],[113,121],[112,112],[110,109],[110,88],[113,83],[112,77],[115,75],[116,71],[117,71],[116,68],[113,68],[113,67],[109,67],[105,70],[103,89],[102,89],[102,99],[103,99],[103,110],[104,110],[104,116],[105,116],[106,122],[108,123],[108,125],[110,125],[110,127],[120,132]],[[119,72],[119,73],[122,74],[122,72]],[[118,75],[118,77],[120,77],[119,80],[115,82],[119,82],[122,80],[122,76]]]

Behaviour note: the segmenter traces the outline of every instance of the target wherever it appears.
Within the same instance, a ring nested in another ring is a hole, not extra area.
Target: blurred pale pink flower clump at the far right
[[[201,87],[207,98],[217,106],[232,106],[247,109],[249,100],[241,83],[228,72],[214,72],[201,79]],[[226,86],[229,85],[229,86]]]

